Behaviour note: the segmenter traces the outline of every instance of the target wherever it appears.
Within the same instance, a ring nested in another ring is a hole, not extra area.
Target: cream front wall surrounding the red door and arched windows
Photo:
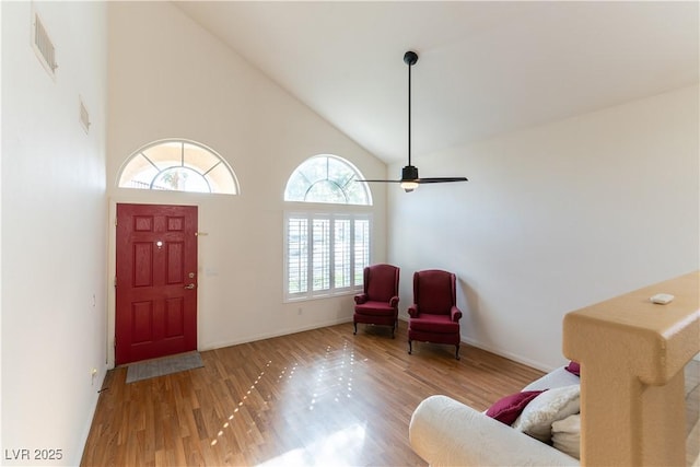
[[[199,207],[199,230],[208,234],[199,238],[199,349],[351,320],[349,295],[283,303],[283,190],[292,171],[319,153],[346,157],[368,176],[385,176],[386,165],[170,2],[112,2],[108,11],[110,217],[117,202]],[[235,171],[241,195],[116,188],[126,159],[163,138],[190,139],[218,151]],[[373,196],[374,259],[384,260],[385,188]],[[114,254],[112,241],[112,273]],[[109,306],[112,342],[112,295]]]

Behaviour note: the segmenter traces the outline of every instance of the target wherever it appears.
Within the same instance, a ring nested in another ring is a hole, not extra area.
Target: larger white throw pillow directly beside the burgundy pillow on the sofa
[[[545,390],[529,401],[513,422],[515,430],[549,443],[551,424],[581,411],[581,386],[578,384]]]

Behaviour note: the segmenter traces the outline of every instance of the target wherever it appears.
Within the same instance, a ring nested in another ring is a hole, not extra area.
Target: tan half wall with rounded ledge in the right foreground
[[[700,272],[564,316],[563,353],[581,363],[581,464],[686,464],[684,367],[700,352]],[[665,305],[650,297],[667,293]]]

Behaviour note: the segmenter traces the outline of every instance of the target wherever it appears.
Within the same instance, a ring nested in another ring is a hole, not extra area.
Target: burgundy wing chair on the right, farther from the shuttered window
[[[455,275],[439,269],[413,273],[413,304],[408,308],[408,353],[412,341],[450,343],[459,360],[459,318]]]

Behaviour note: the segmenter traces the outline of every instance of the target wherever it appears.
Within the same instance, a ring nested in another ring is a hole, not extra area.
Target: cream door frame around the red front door
[[[198,230],[201,231],[201,205],[197,202],[188,202],[182,199],[172,199],[174,198],[172,194],[153,194],[149,191],[149,198],[156,198],[150,200],[143,200],[138,191],[136,196],[118,196],[118,197],[108,197],[108,214],[107,214],[107,319],[105,325],[105,334],[106,334],[106,349],[105,349],[105,363],[108,369],[115,367],[115,339],[116,339],[116,319],[117,319],[117,293],[115,290],[115,277],[117,276],[117,229],[116,229],[116,220],[117,220],[117,205],[126,203],[126,205],[153,205],[153,206],[194,206],[197,207],[197,225]],[[160,196],[158,196],[160,195]],[[170,196],[168,196],[170,195]],[[179,195],[179,194],[177,194]],[[167,199],[171,198],[171,199]],[[179,198],[179,197],[178,197]],[[200,259],[201,259],[201,244],[199,243],[199,236],[197,237],[198,246],[197,246],[197,350],[200,350],[201,342],[201,296],[205,291],[205,281],[201,279],[200,275]]]

